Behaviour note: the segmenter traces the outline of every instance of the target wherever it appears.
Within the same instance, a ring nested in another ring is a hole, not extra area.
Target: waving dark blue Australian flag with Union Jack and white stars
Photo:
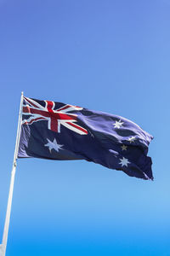
[[[115,114],[24,96],[18,157],[88,160],[153,179],[147,156],[152,138]]]

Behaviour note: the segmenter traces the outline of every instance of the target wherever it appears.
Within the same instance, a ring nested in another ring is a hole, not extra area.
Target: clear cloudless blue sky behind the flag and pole
[[[132,119],[155,181],[19,160],[7,256],[170,255],[170,0],[0,0],[0,237],[20,92]]]

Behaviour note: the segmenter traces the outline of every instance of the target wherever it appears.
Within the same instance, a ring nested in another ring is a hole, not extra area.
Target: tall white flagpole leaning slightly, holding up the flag
[[[23,104],[23,92],[21,92],[21,97],[20,97],[20,114],[19,114],[16,143],[15,143],[15,149],[14,149],[14,161],[13,161],[13,167],[12,167],[12,172],[11,172],[10,187],[9,187],[9,192],[8,192],[7,212],[6,212],[4,229],[3,229],[3,242],[2,242],[2,244],[0,244],[0,256],[5,256],[6,247],[7,247],[8,226],[9,226],[12,199],[13,199],[13,190],[14,190],[14,176],[15,176],[15,171],[16,171],[16,160],[17,160],[19,143],[20,143],[20,130],[21,130],[21,122],[22,122],[22,104]]]

